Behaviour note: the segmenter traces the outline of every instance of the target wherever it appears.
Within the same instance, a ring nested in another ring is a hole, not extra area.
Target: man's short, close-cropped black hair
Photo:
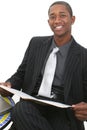
[[[50,7],[49,7],[49,10],[48,10],[48,14],[49,14],[49,12],[50,12],[50,8],[51,8],[53,5],[57,5],[57,4],[59,4],[59,5],[64,5],[64,6],[67,8],[69,14],[70,14],[71,16],[73,16],[73,11],[72,11],[71,6],[70,6],[67,2],[65,2],[65,1],[56,1],[56,2],[54,2],[53,4],[51,4]]]

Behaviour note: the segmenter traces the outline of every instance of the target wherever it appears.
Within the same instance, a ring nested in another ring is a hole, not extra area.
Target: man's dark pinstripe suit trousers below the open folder
[[[12,110],[10,130],[70,130],[65,109],[20,101]]]

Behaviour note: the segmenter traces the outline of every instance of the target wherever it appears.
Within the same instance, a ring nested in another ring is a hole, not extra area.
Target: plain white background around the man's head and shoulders
[[[86,0],[65,1],[70,3],[76,16],[72,34],[77,42],[87,48]],[[33,36],[52,35],[47,13],[53,2],[54,0],[0,0],[0,82],[16,71]]]

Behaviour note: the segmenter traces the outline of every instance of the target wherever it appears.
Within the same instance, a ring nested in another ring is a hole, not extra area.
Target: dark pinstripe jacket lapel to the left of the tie
[[[35,58],[35,71],[34,71],[34,81],[40,75],[42,70],[45,58],[47,56],[48,50],[52,43],[52,37],[47,38],[45,41],[42,41],[42,44],[39,45],[36,50],[36,58]],[[37,80],[37,79],[36,79]]]

